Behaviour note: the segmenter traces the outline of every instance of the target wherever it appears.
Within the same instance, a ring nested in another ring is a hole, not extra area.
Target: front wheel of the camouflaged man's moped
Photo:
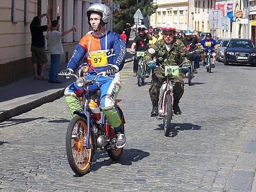
[[[166,137],[170,134],[170,123],[172,121],[172,98],[170,95],[166,95],[164,99],[165,113],[163,117],[163,129]]]

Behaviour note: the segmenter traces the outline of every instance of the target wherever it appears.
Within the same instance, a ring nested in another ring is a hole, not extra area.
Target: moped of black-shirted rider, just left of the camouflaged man
[[[137,72],[137,79],[138,79],[138,86],[144,86],[145,78],[146,78],[146,65],[144,60],[144,51],[132,51],[134,52],[137,57],[139,58],[138,61],[138,72]]]

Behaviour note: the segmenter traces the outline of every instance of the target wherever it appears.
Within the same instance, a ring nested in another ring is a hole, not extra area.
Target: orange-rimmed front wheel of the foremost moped
[[[91,148],[87,149],[87,134],[87,120],[80,116],[74,117],[67,130],[66,152],[70,167],[79,176],[90,172],[93,160],[92,136],[90,136]]]

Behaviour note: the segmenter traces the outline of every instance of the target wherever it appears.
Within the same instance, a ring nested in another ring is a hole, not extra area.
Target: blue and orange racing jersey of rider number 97
[[[73,56],[68,63],[68,68],[75,71],[79,67],[79,61],[84,56],[87,57],[88,63],[91,65],[90,55],[100,52],[105,53],[104,55],[107,58],[108,66],[113,66],[118,71],[122,70],[126,56],[126,46],[120,36],[112,31],[108,31],[101,36],[98,36],[93,32],[84,35],[75,47]],[[91,69],[96,72],[104,71],[105,68],[106,66],[91,66]]]

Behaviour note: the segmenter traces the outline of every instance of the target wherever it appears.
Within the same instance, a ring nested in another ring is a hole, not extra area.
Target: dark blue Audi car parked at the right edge
[[[256,49],[249,39],[230,39],[224,53],[224,65],[229,63],[256,66]]]

